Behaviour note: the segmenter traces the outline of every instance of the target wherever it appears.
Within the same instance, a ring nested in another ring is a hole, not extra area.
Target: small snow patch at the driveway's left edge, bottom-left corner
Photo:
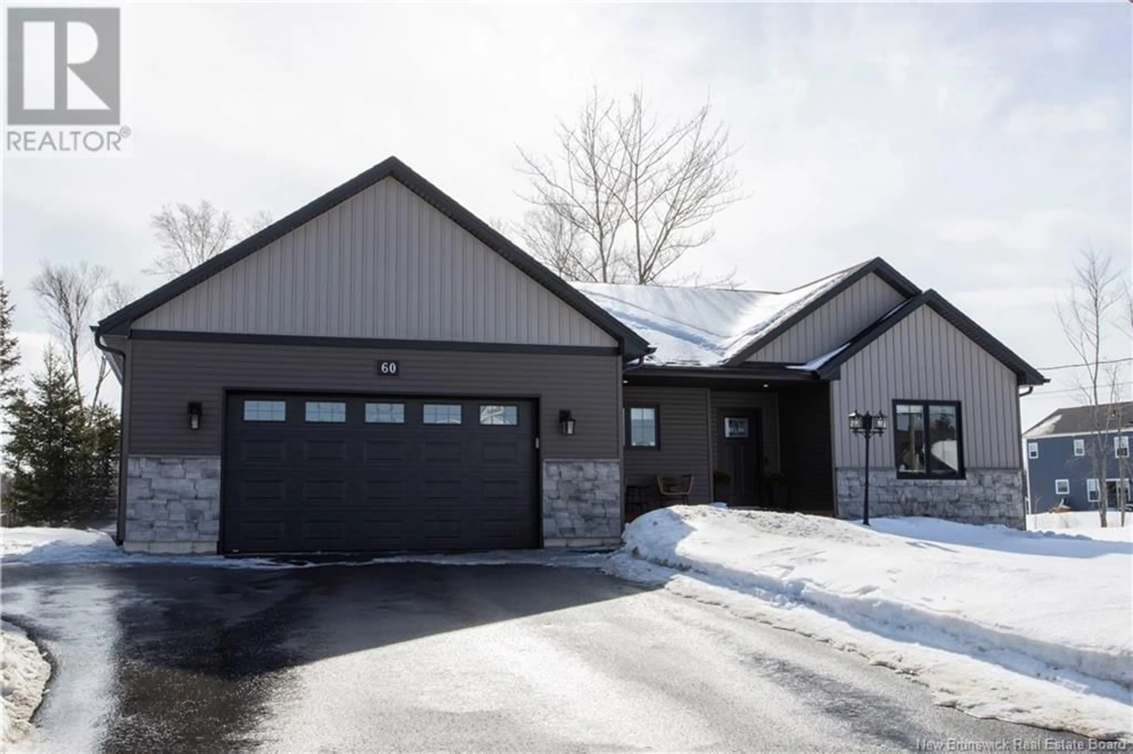
[[[32,716],[43,701],[51,666],[27,634],[8,622],[0,623],[0,693],[3,695],[3,740],[14,744],[32,729]]]

